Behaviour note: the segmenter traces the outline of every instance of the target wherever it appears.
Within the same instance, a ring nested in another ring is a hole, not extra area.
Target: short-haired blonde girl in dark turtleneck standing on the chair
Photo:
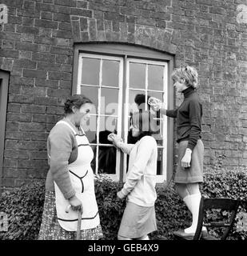
[[[177,194],[185,202],[192,214],[192,225],[185,230],[175,231],[182,237],[193,237],[197,228],[197,219],[201,192],[199,183],[203,182],[204,145],[201,141],[202,106],[196,93],[197,70],[185,66],[173,70],[172,78],[177,93],[184,95],[184,101],[176,110],[165,110],[162,102],[153,105],[154,110],[160,110],[170,118],[177,118],[178,158],[174,182]],[[202,235],[207,235],[205,226]]]

